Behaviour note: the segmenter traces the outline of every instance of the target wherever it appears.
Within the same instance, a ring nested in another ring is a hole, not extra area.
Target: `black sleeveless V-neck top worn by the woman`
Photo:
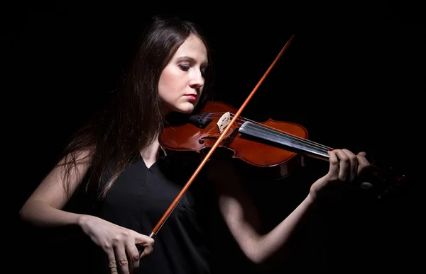
[[[114,182],[94,215],[121,227],[149,235],[190,178],[182,169],[170,168],[161,158],[149,169],[140,154]],[[195,169],[194,169],[195,170]],[[192,170],[193,172],[193,170]],[[154,250],[140,261],[143,274],[211,273],[207,246],[207,182],[192,182],[163,227],[153,236]],[[92,246],[90,273],[109,274],[105,253]]]

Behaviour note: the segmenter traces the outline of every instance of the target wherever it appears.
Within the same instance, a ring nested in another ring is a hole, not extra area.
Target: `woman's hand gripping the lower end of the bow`
[[[135,273],[139,259],[153,251],[154,240],[151,237],[99,217],[83,215],[79,224],[83,232],[107,253],[111,274],[119,273],[119,270],[123,274]],[[136,244],[143,246],[140,256]]]

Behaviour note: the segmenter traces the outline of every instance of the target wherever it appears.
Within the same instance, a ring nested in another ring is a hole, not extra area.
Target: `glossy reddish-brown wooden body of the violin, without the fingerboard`
[[[159,137],[160,144],[168,151],[168,154],[170,152],[203,154],[213,147],[217,141],[221,134],[218,123],[222,115],[227,112],[236,113],[236,109],[226,103],[209,101],[200,110],[200,114],[192,116],[192,122],[166,126]],[[264,171],[263,174],[269,174],[268,177],[273,176],[273,178],[283,178],[305,164],[301,154],[283,149],[280,144],[266,139],[239,132],[239,128],[245,121],[246,119],[241,118],[231,125],[231,129],[218,145],[222,153],[240,159],[251,167],[258,167],[259,169],[256,170],[262,170]],[[282,132],[290,132],[302,139],[307,139],[308,136],[305,127],[293,122],[268,119],[257,124],[272,127]],[[227,152],[223,152],[224,149]]]

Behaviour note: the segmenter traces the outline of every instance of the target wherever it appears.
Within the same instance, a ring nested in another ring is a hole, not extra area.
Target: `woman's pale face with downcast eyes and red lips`
[[[191,113],[200,100],[207,69],[207,49],[195,35],[185,40],[167,64],[158,82],[165,114]]]

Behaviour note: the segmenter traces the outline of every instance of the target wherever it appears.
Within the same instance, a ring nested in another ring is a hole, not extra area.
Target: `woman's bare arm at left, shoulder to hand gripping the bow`
[[[63,185],[63,169],[57,166],[25,202],[19,212],[21,219],[38,227],[76,225],[104,250],[111,273],[117,273],[117,270],[124,274],[133,273],[139,267],[140,258],[153,251],[153,239],[99,217],[62,210],[89,169],[88,153],[80,154],[77,159],[77,168],[69,176],[69,193]],[[143,246],[141,255],[136,245]]]

